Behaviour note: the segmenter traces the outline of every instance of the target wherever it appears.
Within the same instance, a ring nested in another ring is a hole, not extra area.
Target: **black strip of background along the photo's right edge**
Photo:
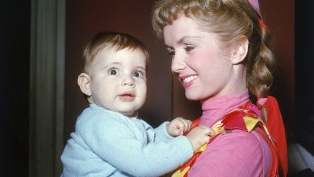
[[[295,4],[295,139],[314,154],[314,1]]]

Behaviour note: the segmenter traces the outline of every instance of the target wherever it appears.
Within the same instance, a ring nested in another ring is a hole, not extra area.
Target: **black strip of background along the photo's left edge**
[[[0,3],[1,176],[28,174],[30,3]]]

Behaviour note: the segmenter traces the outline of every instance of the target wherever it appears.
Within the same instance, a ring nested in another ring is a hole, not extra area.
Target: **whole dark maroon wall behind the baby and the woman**
[[[201,114],[198,102],[188,101],[176,80],[172,81],[170,57],[163,41],[152,31],[152,0],[68,0],[66,15],[65,139],[74,131],[77,116],[87,102],[77,85],[84,45],[101,31],[119,31],[133,35],[147,46],[151,60],[148,68],[148,96],[140,116],[156,126],[174,116],[194,119]],[[260,0],[265,24],[275,38],[274,52],[279,67],[272,90],[278,98],[289,133],[295,113],[294,92],[294,0]],[[169,58],[169,60],[168,60]]]

